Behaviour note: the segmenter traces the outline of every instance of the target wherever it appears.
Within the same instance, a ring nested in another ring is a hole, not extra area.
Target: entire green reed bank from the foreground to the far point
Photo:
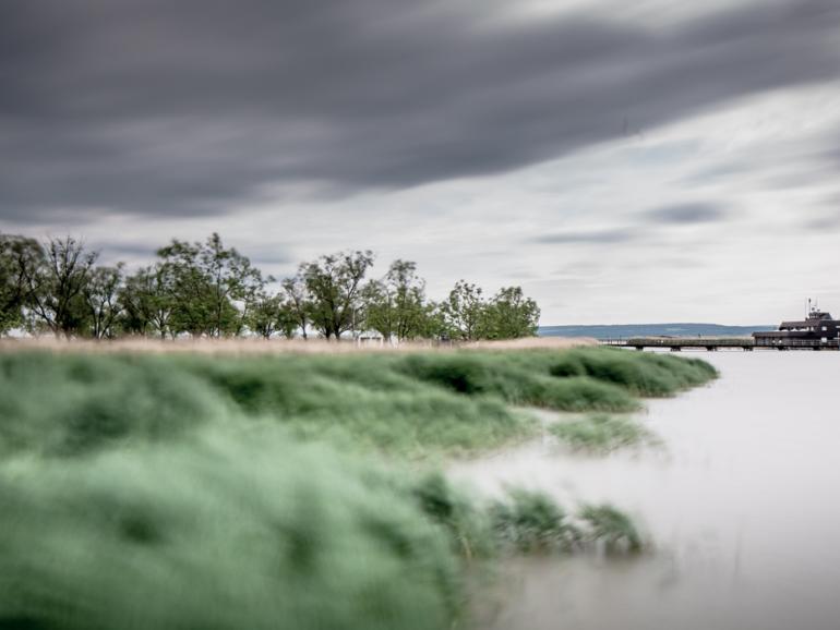
[[[628,410],[713,376],[598,348],[0,353],[0,628],[465,627],[493,558],[643,538],[609,506],[488,502],[397,462],[532,435],[513,405]]]

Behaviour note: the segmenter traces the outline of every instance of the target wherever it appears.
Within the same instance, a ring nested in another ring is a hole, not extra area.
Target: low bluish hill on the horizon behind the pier
[[[540,337],[742,337],[757,330],[776,330],[776,326],[722,326],[720,324],[616,324],[602,326],[540,326]]]

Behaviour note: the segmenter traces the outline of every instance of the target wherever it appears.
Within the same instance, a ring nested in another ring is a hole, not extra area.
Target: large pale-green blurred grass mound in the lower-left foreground
[[[0,628],[425,630],[460,609],[410,496],[265,433],[7,464],[0,505]]]

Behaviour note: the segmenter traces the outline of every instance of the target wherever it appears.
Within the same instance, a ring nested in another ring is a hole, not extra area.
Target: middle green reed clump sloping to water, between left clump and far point
[[[536,424],[494,396],[456,396],[412,379],[389,355],[178,362],[251,417],[304,437],[422,456],[493,448]]]

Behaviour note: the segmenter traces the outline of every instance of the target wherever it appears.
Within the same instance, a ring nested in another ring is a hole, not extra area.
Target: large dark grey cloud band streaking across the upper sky
[[[669,31],[415,0],[8,0],[0,218],[500,172],[840,76],[836,0]]]

